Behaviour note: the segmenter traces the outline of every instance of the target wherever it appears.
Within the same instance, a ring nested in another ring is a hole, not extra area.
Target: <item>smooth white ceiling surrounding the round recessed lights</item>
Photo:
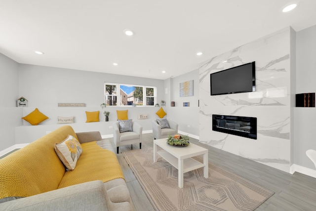
[[[167,79],[285,27],[316,25],[316,0],[294,0],[282,13],[290,2],[0,0],[0,53],[24,64]]]

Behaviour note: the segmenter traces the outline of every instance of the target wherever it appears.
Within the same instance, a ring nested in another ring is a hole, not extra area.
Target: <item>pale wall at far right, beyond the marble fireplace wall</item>
[[[296,33],[296,93],[316,92],[316,26]],[[316,108],[295,108],[294,164],[315,169],[306,150],[316,150]]]

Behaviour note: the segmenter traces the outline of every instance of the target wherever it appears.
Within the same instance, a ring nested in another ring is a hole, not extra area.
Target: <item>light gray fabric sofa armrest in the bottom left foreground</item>
[[[105,198],[106,191],[104,183],[100,180],[95,180],[0,203],[0,210],[108,211]]]

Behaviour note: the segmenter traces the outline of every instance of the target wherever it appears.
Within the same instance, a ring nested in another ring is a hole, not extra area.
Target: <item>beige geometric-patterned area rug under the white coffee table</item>
[[[160,156],[153,163],[152,147],[122,153],[156,211],[253,211],[274,194],[210,162],[208,178],[203,168],[189,171],[179,188],[178,169]]]

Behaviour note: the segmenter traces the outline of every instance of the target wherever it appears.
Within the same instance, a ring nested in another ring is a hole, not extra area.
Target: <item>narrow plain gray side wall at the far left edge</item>
[[[18,63],[0,53],[0,151],[15,144],[15,127],[21,125],[18,87]]]

